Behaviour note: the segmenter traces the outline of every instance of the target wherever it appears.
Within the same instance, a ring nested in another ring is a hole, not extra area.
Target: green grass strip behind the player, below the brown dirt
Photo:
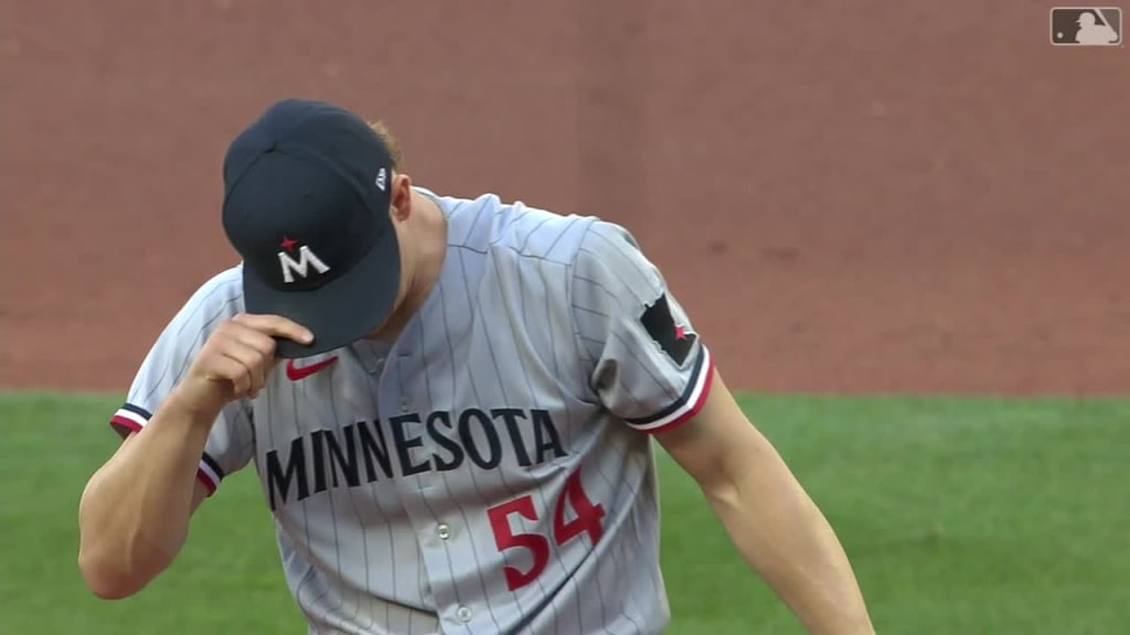
[[[251,472],[140,595],[75,566],[114,398],[0,398],[0,633],[305,633]],[[879,633],[1105,634],[1130,624],[1130,401],[756,397],[744,405],[837,529]],[[802,633],[662,461],[669,633]]]

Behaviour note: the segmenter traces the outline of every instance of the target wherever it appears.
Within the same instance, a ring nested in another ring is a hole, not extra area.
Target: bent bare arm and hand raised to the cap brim
[[[312,336],[269,315],[221,323],[145,429],[90,477],[79,503],[78,560],[96,595],[132,595],[172,564],[208,494],[195,475],[212,424],[226,403],[262,390],[276,337],[305,343]]]

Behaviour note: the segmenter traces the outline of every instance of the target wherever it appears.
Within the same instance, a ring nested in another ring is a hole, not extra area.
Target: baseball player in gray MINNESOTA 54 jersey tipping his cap
[[[314,101],[243,130],[224,186],[241,262],[157,338],[82,495],[95,594],[145,588],[253,463],[310,633],[660,633],[655,440],[811,633],[872,633],[623,227],[416,186],[385,131]]]

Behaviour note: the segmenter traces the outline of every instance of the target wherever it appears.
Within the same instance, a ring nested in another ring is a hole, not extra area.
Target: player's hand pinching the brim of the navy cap
[[[193,409],[212,412],[236,399],[254,399],[275,367],[275,338],[310,343],[314,336],[278,315],[241,313],[223,322],[200,348],[176,392]]]

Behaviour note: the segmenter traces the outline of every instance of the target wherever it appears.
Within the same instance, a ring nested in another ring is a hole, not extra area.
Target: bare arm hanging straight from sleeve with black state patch
[[[698,482],[746,562],[809,633],[873,633],[843,548],[716,374],[690,420],[655,435]]]

